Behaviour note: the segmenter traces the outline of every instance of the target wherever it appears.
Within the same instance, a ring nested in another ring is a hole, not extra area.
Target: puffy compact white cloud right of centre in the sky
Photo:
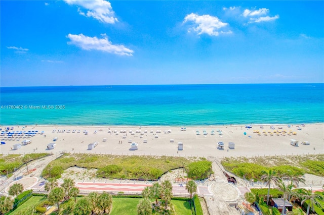
[[[218,36],[219,34],[232,33],[231,31],[219,31],[220,28],[226,27],[228,23],[224,23],[217,17],[210,15],[199,16],[198,14],[191,13],[184,18],[183,22],[193,22],[194,26],[189,28],[188,32],[193,30],[197,32],[198,35],[205,33],[210,36]]]

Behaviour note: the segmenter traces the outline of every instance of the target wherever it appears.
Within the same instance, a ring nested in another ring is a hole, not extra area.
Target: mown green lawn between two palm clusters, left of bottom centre
[[[140,200],[141,198],[112,198],[110,215],[137,215],[137,204]]]

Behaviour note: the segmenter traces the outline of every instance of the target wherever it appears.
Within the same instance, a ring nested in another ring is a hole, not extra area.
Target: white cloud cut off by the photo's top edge
[[[80,8],[77,9],[80,15],[86,17],[93,17],[101,22],[114,24],[118,22],[117,18],[114,17],[115,13],[109,2],[105,0],[64,0],[69,5],[77,5],[84,9],[87,9],[87,13],[83,12]]]

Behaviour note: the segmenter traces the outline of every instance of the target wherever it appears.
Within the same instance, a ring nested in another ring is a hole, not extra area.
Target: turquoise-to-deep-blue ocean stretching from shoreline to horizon
[[[1,125],[199,126],[324,122],[322,83],[0,89]]]

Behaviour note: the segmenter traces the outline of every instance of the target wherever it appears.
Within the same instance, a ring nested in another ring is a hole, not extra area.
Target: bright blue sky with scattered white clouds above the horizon
[[[323,1],[1,1],[1,86],[323,83]]]

